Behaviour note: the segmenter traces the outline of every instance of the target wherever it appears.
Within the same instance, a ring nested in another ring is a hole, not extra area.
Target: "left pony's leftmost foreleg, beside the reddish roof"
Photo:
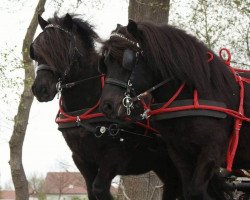
[[[93,191],[92,191],[92,185],[95,180],[95,177],[97,175],[98,167],[96,165],[91,165],[89,162],[82,160],[78,155],[73,154],[72,158],[74,160],[75,165],[83,175],[87,191],[88,191],[88,199],[89,200],[98,200]]]

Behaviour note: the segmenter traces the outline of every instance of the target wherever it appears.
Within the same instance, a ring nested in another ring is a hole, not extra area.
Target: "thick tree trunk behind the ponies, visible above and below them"
[[[135,21],[168,23],[170,0],[129,0],[128,16]],[[170,172],[171,173],[171,172]],[[162,185],[152,172],[141,176],[123,176],[118,200],[160,200]]]

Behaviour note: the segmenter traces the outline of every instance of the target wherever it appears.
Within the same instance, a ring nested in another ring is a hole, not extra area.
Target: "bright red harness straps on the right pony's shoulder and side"
[[[197,90],[194,90],[194,93],[193,93],[193,100],[194,100],[193,105],[178,106],[178,107],[171,107],[171,108],[168,107],[179,96],[179,94],[183,90],[185,83],[182,83],[181,86],[176,91],[176,93],[173,95],[173,97],[171,97],[161,108],[150,110],[148,112],[148,116],[158,115],[158,114],[167,113],[167,112],[183,111],[183,110],[206,109],[206,110],[224,112],[234,117],[235,118],[234,130],[230,137],[230,142],[229,142],[227,157],[226,157],[227,170],[232,171],[232,165],[233,165],[233,160],[234,160],[236,150],[238,147],[239,133],[240,133],[242,121],[250,122],[250,118],[244,115],[244,108],[243,108],[243,105],[244,105],[244,83],[243,82],[250,84],[250,79],[240,77],[236,72],[250,72],[250,70],[240,70],[240,69],[234,69],[233,67],[231,67],[230,66],[231,54],[229,50],[224,49],[224,48],[221,49],[220,51],[221,57],[222,57],[222,51],[226,51],[226,53],[228,54],[228,59],[225,61],[225,64],[230,68],[231,72],[234,74],[235,80],[240,86],[240,103],[239,103],[238,111],[227,109],[227,108],[222,108],[222,107],[217,107],[217,106],[199,104]],[[209,55],[210,55],[210,58],[208,61],[210,62],[213,59],[213,55],[211,53],[209,53]]]

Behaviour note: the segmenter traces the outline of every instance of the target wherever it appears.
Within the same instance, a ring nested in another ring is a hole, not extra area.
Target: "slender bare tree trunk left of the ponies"
[[[9,141],[9,164],[16,192],[16,200],[29,199],[28,181],[26,179],[22,164],[23,141],[28,124],[30,108],[34,98],[30,90],[31,84],[34,80],[34,66],[32,60],[29,58],[29,45],[33,41],[38,26],[37,15],[44,12],[45,3],[46,0],[39,0],[33,18],[23,40],[22,55],[23,68],[25,72],[24,90],[20,98],[17,114],[14,118],[14,129]]]

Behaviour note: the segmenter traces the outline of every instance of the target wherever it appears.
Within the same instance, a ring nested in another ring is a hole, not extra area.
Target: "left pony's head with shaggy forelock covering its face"
[[[88,22],[75,15],[55,14],[48,21],[39,15],[38,23],[43,31],[30,45],[30,57],[37,64],[32,92],[38,101],[47,102],[58,92],[58,83],[89,75],[86,65],[96,60],[94,39],[98,36]]]

